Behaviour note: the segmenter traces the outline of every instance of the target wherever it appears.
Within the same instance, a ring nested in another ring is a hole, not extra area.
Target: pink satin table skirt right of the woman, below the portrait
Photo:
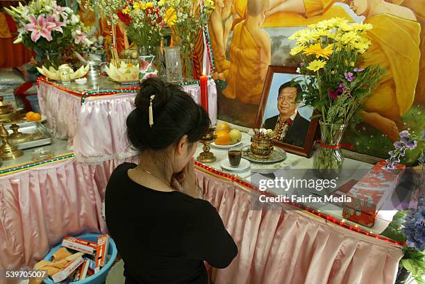
[[[250,210],[251,191],[197,172],[203,198],[238,245],[215,284],[392,284],[401,247],[299,210]]]

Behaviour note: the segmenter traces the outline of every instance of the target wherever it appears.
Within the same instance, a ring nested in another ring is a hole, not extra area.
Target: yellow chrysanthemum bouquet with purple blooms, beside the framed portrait
[[[332,18],[289,37],[297,42],[291,55],[301,56],[299,73],[305,79],[298,99],[315,108],[321,122],[356,124],[365,98],[383,76],[381,67],[361,67],[371,44],[367,31],[372,28]]]

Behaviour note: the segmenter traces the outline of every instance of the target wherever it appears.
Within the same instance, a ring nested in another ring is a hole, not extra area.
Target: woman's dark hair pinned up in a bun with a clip
[[[149,104],[152,100],[153,125],[149,126]],[[140,85],[135,110],[127,117],[127,136],[134,149],[160,150],[188,135],[196,142],[210,126],[208,112],[194,102],[179,85],[148,78]]]

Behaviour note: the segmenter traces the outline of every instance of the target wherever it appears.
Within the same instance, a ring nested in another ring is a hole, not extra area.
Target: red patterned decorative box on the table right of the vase
[[[378,162],[355,185],[335,192],[351,197],[351,202],[344,203],[342,208],[344,218],[369,228],[374,226],[378,210],[392,197],[406,169],[405,165],[397,164],[394,170],[386,171],[383,166],[385,161]]]

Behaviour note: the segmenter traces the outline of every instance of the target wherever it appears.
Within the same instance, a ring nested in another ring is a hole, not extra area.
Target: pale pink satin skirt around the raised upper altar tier
[[[199,85],[185,85],[183,88],[200,103]],[[49,127],[56,137],[69,138],[76,159],[81,162],[102,162],[135,154],[126,140],[126,117],[135,108],[135,96],[135,92],[118,91],[116,94],[85,97],[84,92],[38,81],[38,101]],[[215,124],[217,88],[213,80],[208,82],[208,112]]]

